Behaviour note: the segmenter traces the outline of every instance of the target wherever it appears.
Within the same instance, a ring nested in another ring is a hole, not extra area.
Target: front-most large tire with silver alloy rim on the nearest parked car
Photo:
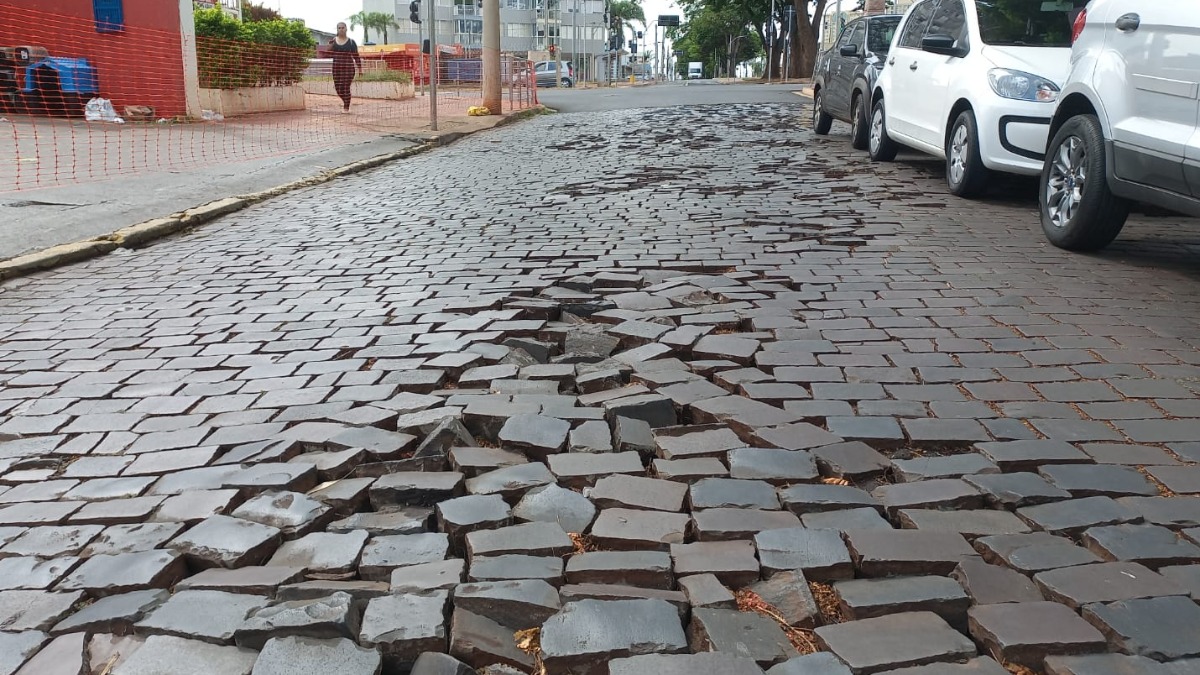
[[[1096,115],[1076,115],[1046,147],[1038,210],[1046,239],[1068,251],[1108,246],[1129,217],[1129,201],[1109,189],[1104,132]]]

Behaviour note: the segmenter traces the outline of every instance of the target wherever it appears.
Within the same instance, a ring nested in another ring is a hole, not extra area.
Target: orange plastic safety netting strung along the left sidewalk
[[[0,0],[0,192],[428,129],[431,59],[415,44],[360,54],[347,113],[329,44],[196,36],[181,11],[175,0]],[[505,55],[502,70],[493,112],[535,104],[529,62]],[[478,54],[444,46],[437,71],[439,118],[482,103]]]

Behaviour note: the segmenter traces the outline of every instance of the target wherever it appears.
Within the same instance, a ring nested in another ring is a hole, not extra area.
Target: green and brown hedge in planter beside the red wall
[[[302,22],[242,23],[220,8],[196,13],[200,86],[287,86],[300,82],[314,42]]]

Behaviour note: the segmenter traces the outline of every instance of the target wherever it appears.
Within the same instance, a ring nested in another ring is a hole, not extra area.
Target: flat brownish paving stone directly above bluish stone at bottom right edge
[[[1097,602],[1187,596],[1183,586],[1135,562],[1105,562],[1042,572],[1033,577],[1042,593],[1072,608]]]

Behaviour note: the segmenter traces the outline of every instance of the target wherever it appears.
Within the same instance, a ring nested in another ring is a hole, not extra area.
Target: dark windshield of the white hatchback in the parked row
[[[1086,0],[977,0],[985,44],[1070,47],[1070,24]]]

